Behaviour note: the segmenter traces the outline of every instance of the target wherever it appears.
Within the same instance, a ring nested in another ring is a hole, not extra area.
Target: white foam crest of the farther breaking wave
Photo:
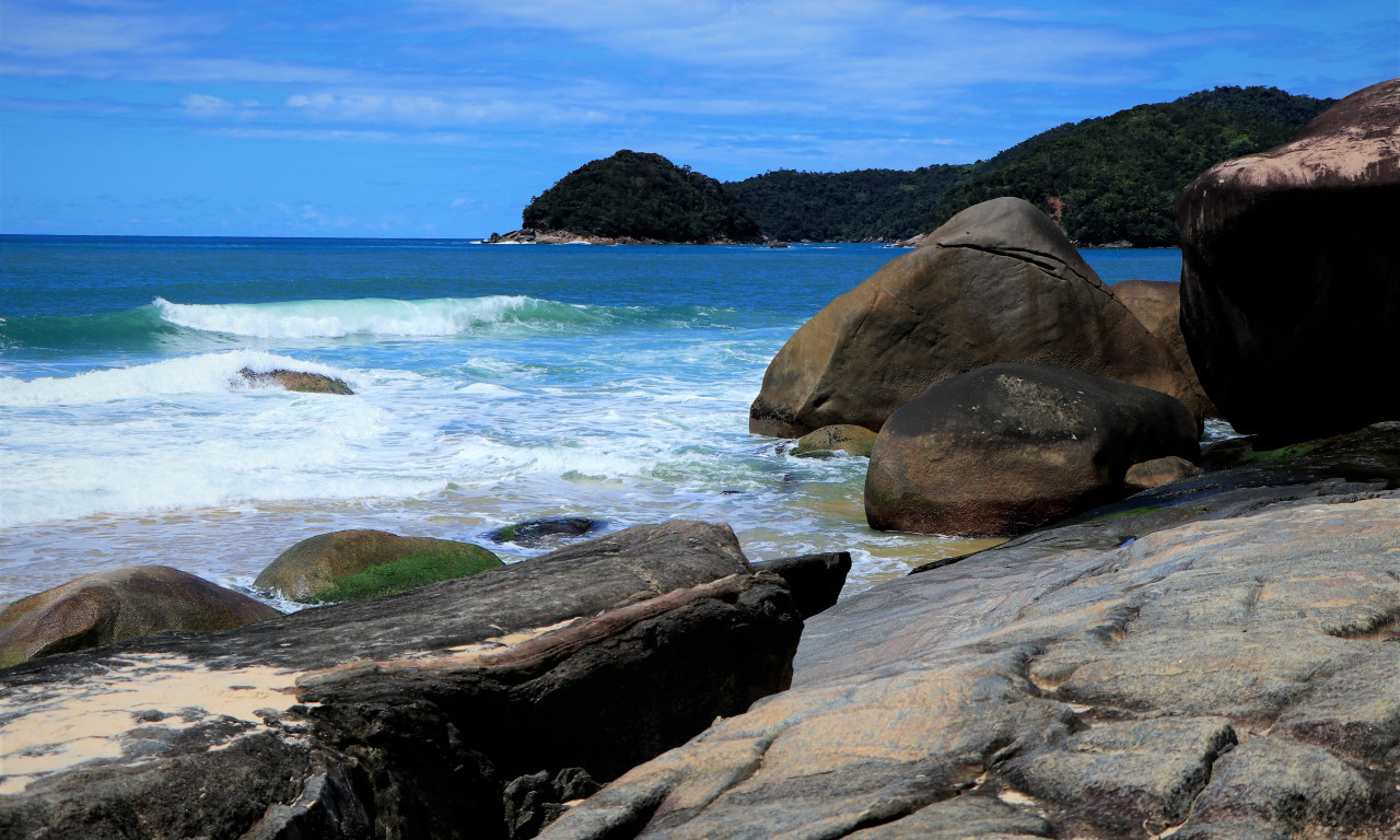
[[[172,304],[155,298],[169,323],[260,339],[368,336],[454,336],[473,328],[518,321],[539,304],[524,295],[398,301],[287,301],[279,304]]]

